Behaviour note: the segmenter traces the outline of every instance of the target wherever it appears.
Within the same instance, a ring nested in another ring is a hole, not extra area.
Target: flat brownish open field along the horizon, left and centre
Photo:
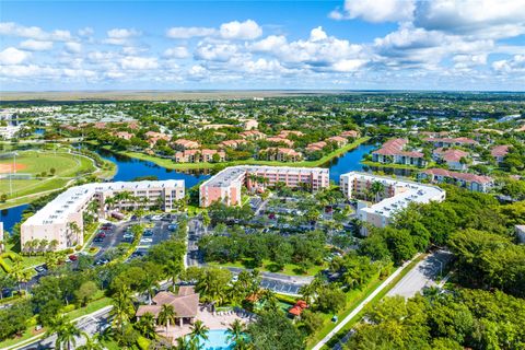
[[[2,101],[182,101],[182,100],[231,100],[254,97],[290,97],[334,95],[345,91],[323,90],[187,90],[187,91],[44,91],[2,92]]]

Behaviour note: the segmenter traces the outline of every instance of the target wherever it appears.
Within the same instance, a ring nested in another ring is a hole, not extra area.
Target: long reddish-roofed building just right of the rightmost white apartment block
[[[454,184],[476,192],[488,192],[494,186],[494,179],[468,173],[451,172],[444,168],[429,168],[418,174],[419,179],[428,179],[431,183]]]

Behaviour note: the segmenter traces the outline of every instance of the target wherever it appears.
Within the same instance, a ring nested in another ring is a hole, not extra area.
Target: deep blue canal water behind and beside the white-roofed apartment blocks
[[[410,176],[411,171],[388,168],[388,167],[371,167],[361,164],[361,160],[366,153],[373,151],[377,145],[373,142],[368,144],[360,144],[358,148],[336,158],[323,167],[330,170],[330,179],[336,184],[339,183],[341,174],[352,171],[363,172],[383,172],[388,175]],[[198,183],[211,176],[210,171],[174,171],[159,166],[149,161],[141,161],[128,156],[118,155],[105,150],[97,150],[102,158],[114,162],[117,165],[117,173],[113,180],[129,182],[142,176],[155,176],[158,179],[184,179],[186,188],[194,187]],[[27,208],[27,205],[19,206],[0,211],[0,221],[3,222],[5,231],[11,231],[12,226],[22,219],[22,212]]]

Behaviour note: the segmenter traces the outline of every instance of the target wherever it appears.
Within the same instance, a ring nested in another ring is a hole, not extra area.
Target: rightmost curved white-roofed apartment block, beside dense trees
[[[383,192],[374,198],[377,199],[376,203],[360,202],[357,215],[359,220],[376,228],[388,225],[394,213],[405,209],[410,202],[441,202],[445,199],[445,190],[435,186],[359,172],[341,175],[339,185],[345,197],[350,199],[365,196],[375,182],[383,185]],[[362,233],[366,234],[366,229]]]

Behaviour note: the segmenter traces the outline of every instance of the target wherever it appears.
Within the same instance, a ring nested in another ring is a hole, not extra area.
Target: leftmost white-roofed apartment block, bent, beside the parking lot
[[[131,200],[115,202],[114,208],[150,208],[161,205],[171,211],[174,203],[185,196],[184,180],[144,180],[93,183],[68,188],[44,208],[28,218],[21,226],[21,246],[33,240],[57,241],[57,249],[83,244],[83,212],[96,200],[98,213],[107,212],[106,199],[119,192],[129,192]],[[74,230],[74,224],[80,229]]]

